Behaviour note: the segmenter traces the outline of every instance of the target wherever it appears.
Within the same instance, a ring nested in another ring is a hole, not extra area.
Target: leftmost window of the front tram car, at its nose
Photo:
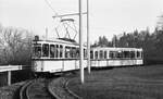
[[[34,57],[35,58],[41,57],[41,45],[40,44],[34,45]]]

